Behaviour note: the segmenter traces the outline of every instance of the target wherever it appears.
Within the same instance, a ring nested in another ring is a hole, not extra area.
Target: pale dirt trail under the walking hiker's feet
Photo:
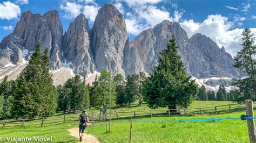
[[[88,125],[88,124],[87,124]],[[85,129],[86,130],[86,129]],[[70,135],[77,138],[77,142],[79,142],[79,128],[74,127],[68,130],[70,132]],[[100,143],[100,141],[92,134],[83,134],[83,141],[86,143]]]

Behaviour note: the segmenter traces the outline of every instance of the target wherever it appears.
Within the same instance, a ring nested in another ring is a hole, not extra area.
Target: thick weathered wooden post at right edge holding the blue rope
[[[254,117],[253,115],[253,102],[252,100],[246,100],[246,115],[248,117]],[[255,127],[254,127],[254,119],[247,119],[247,127],[248,127],[248,133],[249,133],[249,139],[250,142],[256,142],[255,139]]]

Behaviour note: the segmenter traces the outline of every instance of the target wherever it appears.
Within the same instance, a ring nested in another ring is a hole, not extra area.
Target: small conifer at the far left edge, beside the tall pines
[[[8,81],[8,76],[5,76],[3,82],[0,84],[0,95],[3,97],[2,116],[5,119],[11,117],[10,109],[12,106],[12,93],[14,87],[14,81]]]

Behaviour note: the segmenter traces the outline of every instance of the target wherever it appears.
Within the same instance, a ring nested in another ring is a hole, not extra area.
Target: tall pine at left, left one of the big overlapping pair
[[[12,108],[15,118],[35,118],[41,112],[43,98],[38,83],[41,83],[42,62],[40,45],[37,44],[28,66],[22,70],[16,80],[17,85]]]

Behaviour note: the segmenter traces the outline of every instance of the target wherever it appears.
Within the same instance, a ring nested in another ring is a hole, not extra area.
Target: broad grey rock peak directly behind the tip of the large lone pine
[[[172,34],[176,36],[179,53],[182,53],[189,45],[187,34],[178,23],[171,23],[169,20],[164,20],[153,28],[143,31],[131,41],[132,46],[139,51],[143,69],[147,73],[151,73],[152,68],[157,65],[160,52],[167,48],[167,42],[171,39]],[[181,54],[181,58],[184,64],[187,65],[186,56]],[[189,69],[187,71],[190,73]]]

